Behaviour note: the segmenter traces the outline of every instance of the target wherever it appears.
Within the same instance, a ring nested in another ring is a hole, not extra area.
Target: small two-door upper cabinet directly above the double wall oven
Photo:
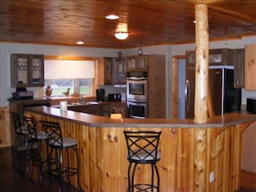
[[[147,71],[147,55],[128,57],[127,71]]]

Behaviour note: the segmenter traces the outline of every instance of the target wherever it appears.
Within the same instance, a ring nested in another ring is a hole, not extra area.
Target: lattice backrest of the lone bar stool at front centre
[[[156,163],[159,156],[159,138],[161,132],[153,131],[124,131],[128,160],[136,163]]]

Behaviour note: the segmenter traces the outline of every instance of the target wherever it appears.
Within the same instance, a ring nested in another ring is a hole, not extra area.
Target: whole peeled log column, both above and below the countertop
[[[203,123],[208,118],[209,28],[207,5],[197,4],[196,11],[196,86],[195,118]],[[207,131],[194,133],[194,191],[207,191]]]

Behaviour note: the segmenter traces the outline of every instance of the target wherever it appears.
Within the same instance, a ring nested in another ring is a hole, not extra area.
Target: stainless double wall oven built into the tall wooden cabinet
[[[128,115],[132,118],[147,118],[147,72],[128,72]]]

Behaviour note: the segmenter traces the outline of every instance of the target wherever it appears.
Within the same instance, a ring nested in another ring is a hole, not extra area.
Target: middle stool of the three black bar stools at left
[[[36,123],[34,118],[23,116],[23,121],[25,127],[28,128],[28,139],[31,143],[30,145],[30,157],[32,158],[32,163],[34,165],[39,165],[41,170],[40,182],[42,181],[42,175],[44,172],[44,164],[47,163],[47,158],[42,158],[41,145],[42,142],[46,142],[47,134],[44,131],[38,131],[36,128]],[[36,146],[35,146],[36,145]]]

